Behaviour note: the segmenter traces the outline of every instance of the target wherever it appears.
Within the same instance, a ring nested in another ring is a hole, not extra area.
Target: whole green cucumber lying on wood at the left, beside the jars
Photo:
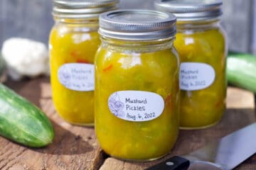
[[[0,84],[0,135],[28,147],[44,147],[54,132],[45,113]]]

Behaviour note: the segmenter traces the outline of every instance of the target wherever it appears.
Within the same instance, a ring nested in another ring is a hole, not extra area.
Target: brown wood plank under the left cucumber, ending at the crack
[[[98,169],[102,162],[93,128],[65,123],[55,112],[48,77],[6,83],[39,106],[50,118],[55,139],[48,147],[32,149],[0,137],[0,169]]]

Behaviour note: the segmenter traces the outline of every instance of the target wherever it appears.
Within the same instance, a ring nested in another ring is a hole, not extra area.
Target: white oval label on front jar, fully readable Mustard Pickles
[[[108,98],[110,112],[134,122],[153,120],[164,111],[164,99],[149,91],[116,91]]]

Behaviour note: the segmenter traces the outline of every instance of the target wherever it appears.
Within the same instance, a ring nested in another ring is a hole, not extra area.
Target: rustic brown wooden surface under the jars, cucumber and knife
[[[48,115],[55,129],[55,139],[48,147],[32,149],[0,137],[0,169],[3,170],[140,170],[168,159],[174,154],[191,152],[202,147],[206,142],[255,122],[253,94],[229,87],[228,109],[218,125],[206,130],[181,130],[175,147],[162,159],[144,163],[123,162],[108,157],[101,151],[93,128],[70,125],[58,116],[51,101],[48,77],[18,82],[7,81],[6,85],[28,98]],[[247,159],[237,169],[256,169],[256,156]]]

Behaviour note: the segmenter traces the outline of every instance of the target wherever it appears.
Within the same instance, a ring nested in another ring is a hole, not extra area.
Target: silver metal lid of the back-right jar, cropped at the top
[[[206,21],[222,15],[222,0],[155,0],[159,11],[174,13],[178,21]]]

